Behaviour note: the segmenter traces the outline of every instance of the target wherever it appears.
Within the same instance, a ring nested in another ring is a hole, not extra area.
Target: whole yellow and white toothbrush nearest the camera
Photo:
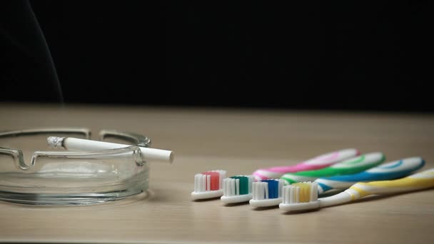
[[[434,187],[434,168],[393,181],[355,183],[337,195],[318,199],[318,183],[296,183],[283,187],[281,210],[298,211],[349,203],[367,195],[404,193]]]

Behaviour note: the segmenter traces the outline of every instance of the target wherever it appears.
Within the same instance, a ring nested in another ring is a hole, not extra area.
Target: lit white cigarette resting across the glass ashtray
[[[126,148],[128,146],[133,146],[119,143],[109,143],[105,141],[57,136],[49,136],[49,138],[47,138],[47,142],[52,148],[65,148],[66,150],[71,151],[99,151],[104,149]],[[156,148],[145,148],[141,146],[138,148],[140,148],[143,158],[147,161],[166,161],[173,163],[174,156],[172,151]]]

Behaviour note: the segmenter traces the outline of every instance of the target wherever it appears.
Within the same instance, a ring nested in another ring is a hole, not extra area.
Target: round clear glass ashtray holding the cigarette
[[[40,128],[0,132],[0,200],[85,205],[126,198],[148,189],[149,166],[139,146],[149,147],[149,138],[103,130],[99,133],[101,141],[123,141],[133,146],[101,151],[34,150],[41,145],[47,148],[48,136],[89,139],[91,131]]]

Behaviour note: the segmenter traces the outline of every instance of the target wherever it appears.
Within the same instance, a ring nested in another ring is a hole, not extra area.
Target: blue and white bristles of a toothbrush
[[[283,180],[263,180],[253,182],[253,200],[280,198],[282,196]]]

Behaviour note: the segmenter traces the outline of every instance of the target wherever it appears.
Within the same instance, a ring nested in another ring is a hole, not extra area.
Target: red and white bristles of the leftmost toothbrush
[[[210,190],[220,190],[226,171],[206,171],[194,176],[194,192],[201,193]]]

